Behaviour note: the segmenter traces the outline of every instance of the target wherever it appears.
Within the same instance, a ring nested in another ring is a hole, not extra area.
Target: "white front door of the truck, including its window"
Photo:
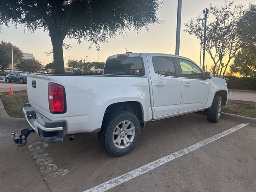
[[[180,112],[205,108],[208,99],[209,81],[204,80],[204,72],[190,60],[176,58],[182,72],[182,98]]]

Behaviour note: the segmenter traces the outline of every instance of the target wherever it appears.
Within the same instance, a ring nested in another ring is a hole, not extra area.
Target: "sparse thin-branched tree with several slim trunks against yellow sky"
[[[217,8],[210,4],[210,14],[215,18],[208,23],[206,30],[206,52],[210,54],[214,62],[212,69],[214,76],[225,75],[228,64],[241,48],[243,40],[238,34],[238,22],[244,14],[242,5],[234,5],[233,2],[225,2],[224,6]],[[190,20],[185,24],[185,32],[195,35],[203,42],[200,20]]]

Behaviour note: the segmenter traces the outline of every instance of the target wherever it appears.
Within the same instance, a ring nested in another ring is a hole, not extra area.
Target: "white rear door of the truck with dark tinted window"
[[[175,59],[169,55],[147,55],[155,116],[178,113],[182,92]]]

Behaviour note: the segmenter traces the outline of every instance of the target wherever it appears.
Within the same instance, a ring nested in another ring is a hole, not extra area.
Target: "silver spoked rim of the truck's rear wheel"
[[[119,148],[123,149],[128,147],[135,136],[135,127],[134,124],[128,120],[120,122],[113,132],[113,143]]]

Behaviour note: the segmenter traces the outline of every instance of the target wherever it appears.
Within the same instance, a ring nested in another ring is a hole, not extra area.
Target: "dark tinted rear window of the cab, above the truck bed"
[[[145,75],[142,57],[113,58],[106,61],[104,74]]]

